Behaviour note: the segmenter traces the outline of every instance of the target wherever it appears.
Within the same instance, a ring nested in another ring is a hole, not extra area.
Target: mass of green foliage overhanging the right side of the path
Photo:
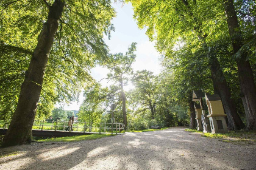
[[[133,5],[138,26],[155,41],[163,54],[162,81],[158,86],[156,105],[162,120],[173,120],[172,113],[179,107],[189,108],[193,90],[203,89],[213,94],[210,66],[217,58],[224,70],[238,112],[243,113],[235,58],[229,37],[226,16],[219,1],[129,1]],[[245,45],[251,51],[249,60],[255,58],[255,2],[235,1],[239,13]],[[249,45],[251,44],[251,45]],[[253,55],[254,54],[254,55]],[[236,55],[239,55],[237,53]],[[235,56],[239,57],[239,56]],[[255,62],[254,62],[255,63]],[[185,115],[185,114],[184,114]],[[163,118],[165,117],[165,118]],[[178,120],[179,122],[179,120]]]

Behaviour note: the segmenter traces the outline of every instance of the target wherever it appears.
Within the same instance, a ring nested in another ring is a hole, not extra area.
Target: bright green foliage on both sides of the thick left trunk
[[[46,1],[0,2],[0,118],[9,121],[16,108],[20,86],[46,22]],[[54,1],[47,1],[49,5]],[[115,12],[111,1],[65,1],[46,67],[37,118],[48,117],[56,102],[78,98],[82,87],[93,81],[88,70],[107,56],[103,36],[110,36]]]

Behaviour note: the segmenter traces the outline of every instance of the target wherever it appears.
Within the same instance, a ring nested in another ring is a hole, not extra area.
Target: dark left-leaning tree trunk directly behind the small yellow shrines
[[[221,66],[219,64],[216,56],[212,56],[210,61],[210,69],[212,73],[213,84],[216,84],[219,91],[219,96],[221,97],[221,101],[224,107],[224,110],[227,114],[227,119],[229,120],[228,129],[230,130],[240,130],[244,128],[244,123],[241,120],[238,112],[236,110],[236,106],[233,103],[231,98],[231,93],[229,87],[227,86],[226,78],[223,75]]]

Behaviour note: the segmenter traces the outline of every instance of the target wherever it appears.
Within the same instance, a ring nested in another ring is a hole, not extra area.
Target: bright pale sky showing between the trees
[[[115,32],[111,32],[110,39],[105,36],[105,43],[110,49],[110,53],[126,53],[132,42],[137,42],[137,55],[135,63],[132,64],[134,71],[149,70],[157,75],[161,71],[160,54],[155,50],[154,42],[149,41],[146,35],[146,29],[138,29],[137,22],[133,18],[132,5],[122,4],[121,2],[113,3],[112,6],[116,11],[116,18],[113,18],[112,24]],[[96,66],[91,69],[91,75],[96,81],[107,77],[109,71],[106,68]],[[101,81],[102,86],[107,86],[107,81]],[[127,89],[132,86],[127,87]],[[66,110],[79,110],[83,101],[83,93],[80,94],[79,101],[64,106]]]

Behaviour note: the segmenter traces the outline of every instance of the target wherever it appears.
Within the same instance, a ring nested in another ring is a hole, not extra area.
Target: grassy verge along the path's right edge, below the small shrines
[[[188,132],[197,132],[202,137],[208,138],[219,138],[224,142],[235,143],[235,144],[256,144],[256,131],[229,131],[226,134],[211,134],[203,133],[194,129],[185,129]]]

